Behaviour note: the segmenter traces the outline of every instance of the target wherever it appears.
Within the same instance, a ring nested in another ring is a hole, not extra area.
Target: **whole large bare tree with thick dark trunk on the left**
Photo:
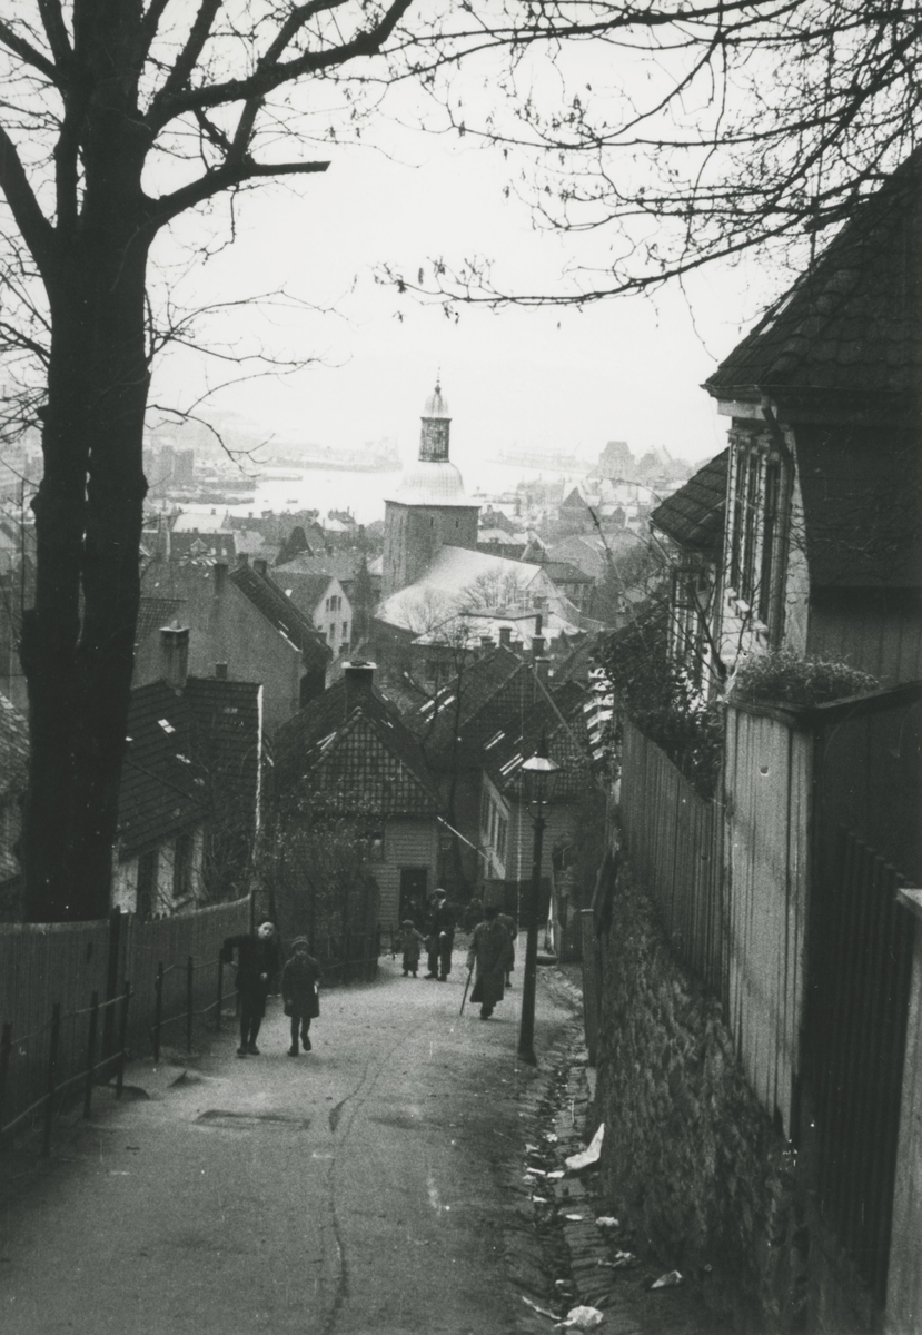
[[[411,68],[414,35],[402,27],[411,3],[4,7],[0,343],[7,362],[21,359],[23,411],[43,399],[36,597],[20,650],[32,920],[108,906],[139,605],[141,434],[163,327],[151,315],[151,248],[180,215],[221,195],[326,171],[302,152],[298,136],[312,132],[295,92],[311,81],[335,119],[330,81],[355,67],[355,87],[339,99],[350,123],[364,84]],[[427,35],[432,24],[420,23]],[[274,156],[286,138],[294,160]]]

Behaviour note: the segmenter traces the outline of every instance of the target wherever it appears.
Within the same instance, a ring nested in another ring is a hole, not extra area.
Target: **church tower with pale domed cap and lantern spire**
[[[382,597],[414,583],[446,546],[476,550],[479,506],[448,459],[451,415],[436,380],[426,400],[419,459],[384,502]]]

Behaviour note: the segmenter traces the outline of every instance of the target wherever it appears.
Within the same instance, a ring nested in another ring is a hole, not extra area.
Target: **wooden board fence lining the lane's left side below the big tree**
[[[0,1132],[120,1053],[180,1045],[192,1016],[213,1013],[220,943],[248,914],[239,900],[153,921],[0,924]]]

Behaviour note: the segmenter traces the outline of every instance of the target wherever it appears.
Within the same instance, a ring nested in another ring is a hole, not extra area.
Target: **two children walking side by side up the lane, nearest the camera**
[[[266,1001],[275,991],[282,956],[275,925],[270,918],[256,928],[256,933],[228,936],[223,959],[229,964],[238,952],[236,987],[240,999],[239,1057],[258,1057],[256,1039],[266,1015]],[[307,937],[298,936],[291,943],[291,959],[282,969],[282,1004],[291,1019],[291,1047],[288,1056],[299,1056],[298,1041],[304,1052],[311,1051],[311,1020],[320,1015],[320,965],[308,953]]]

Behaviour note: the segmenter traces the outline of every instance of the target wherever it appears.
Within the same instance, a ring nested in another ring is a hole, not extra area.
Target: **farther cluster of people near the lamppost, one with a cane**
[[[471,1001],[480,1003],[480,1019],[488,1020],[498,1001],[502,1001],[506,988],[512,987],[515,967],[515,922],[508,913],[500,913],[495,905],[482,906],[479,900],[471,900],[468,914],[476,905],[472,918],[474,930],[467,952],[468,973],[476,969]],[[426,979],[447,983],[451,973],[451,952],[455,944],[455,910],[444,890],[436,890],[430,901],[430,910],[423,934],[412,918],[400,924],[400,945],[403,951],[403,976],[418,977],[419,961],[426,949],[428,973]]]

